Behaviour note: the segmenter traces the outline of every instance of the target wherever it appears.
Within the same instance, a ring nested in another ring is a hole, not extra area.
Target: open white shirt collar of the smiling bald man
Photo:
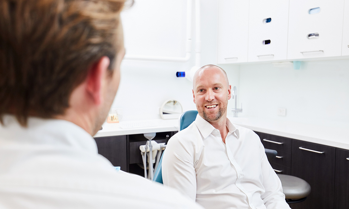
[[[212,133],[212,131],[215,130],[215,127],[213,127],[213,125],[211,125],[208,121],[203,119],[199,114],[196,115],[195,124],[196,124],[196,127],[198,127],[204,139],[206,139]],[[229,132],[235,133],[236,137],[239,139],[240,138],[239,130],[234,127],[234,125],[230,122],[228,118],[227,118],[226,124]]]

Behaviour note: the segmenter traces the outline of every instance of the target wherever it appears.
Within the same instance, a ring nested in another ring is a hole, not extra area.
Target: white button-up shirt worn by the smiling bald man
[[[224,144],[220,131],[198,115],[171,137],[162,159],[164,185],[207,209],[289,209],[258,135],[228,118],[227,127]]]

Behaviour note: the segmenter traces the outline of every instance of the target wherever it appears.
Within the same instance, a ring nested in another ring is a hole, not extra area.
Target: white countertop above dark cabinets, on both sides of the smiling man
[[[325,126],[266,118],[243,118],[231,116],[228,116],[228,118],[233,124],[240,125],[254,131],[349,150],[349,123],[340,123],[339,125],[331,124]],[[120,123],[104,123],[103,130],[98,131],[94,137],[120,136],[178,130],[178,119],[132,121],[134,123],[150,122],[154,123],[155,126],[133,129],[120,128],[120,124],[129,122],[131,121],[121,121]]]

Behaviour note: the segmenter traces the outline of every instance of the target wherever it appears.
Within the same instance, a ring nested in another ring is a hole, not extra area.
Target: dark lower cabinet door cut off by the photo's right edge
[[[336,149],[334,208],[349,207],[349,150]]]

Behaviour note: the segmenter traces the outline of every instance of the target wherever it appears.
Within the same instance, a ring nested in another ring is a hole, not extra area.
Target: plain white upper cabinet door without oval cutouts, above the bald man
[[[248,1],[218,2],[218,64],[247,62]]]

